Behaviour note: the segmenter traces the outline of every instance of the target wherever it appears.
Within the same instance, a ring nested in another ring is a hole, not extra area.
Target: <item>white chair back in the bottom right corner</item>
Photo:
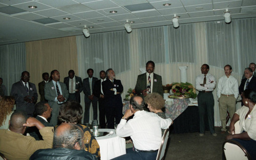
[[[247,150],[237,141],[228,140],[222,146],[226,160],[250,160]]]

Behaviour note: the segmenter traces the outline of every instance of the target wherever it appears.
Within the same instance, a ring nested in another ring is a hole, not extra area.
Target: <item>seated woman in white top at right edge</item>
[[[234,113],[229,126],[226,140],[239,142],[256,159],[256,92],[252,89],[244,90],[242,94],[244,106]],[[241,133],[234,133],[234,124],[240,120]],[[234,134],[232,134],[234,133]]]

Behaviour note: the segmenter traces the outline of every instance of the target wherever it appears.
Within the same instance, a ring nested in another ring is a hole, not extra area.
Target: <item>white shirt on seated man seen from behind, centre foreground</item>
[[[140,110],[127,123],[121,119],[116,134],[120,137],[131,136],[138,150],[157,150],[162,140],[161,128],[167,129],[170,124],[171,119],[162,119],[156,113]]]

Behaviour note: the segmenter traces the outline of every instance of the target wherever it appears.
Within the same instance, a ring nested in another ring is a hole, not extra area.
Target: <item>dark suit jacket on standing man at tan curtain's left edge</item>
[[[28,115],[33,115],[34,103],[28,103],[24,101],[24,97],[29,96],[29,98],[34,97],[35,102],[37,101],[37,90],[34,83],[29,83],[29,92],[25,88],[22,80],[14,83],[11,89],[11,96],[15,98],[16,110],[24,110]]]

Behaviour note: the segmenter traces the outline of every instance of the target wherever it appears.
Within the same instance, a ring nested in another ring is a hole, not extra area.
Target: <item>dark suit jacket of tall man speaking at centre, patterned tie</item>
[[[153,91],[155,93],[159,93],[161,96],[163,96],[163,86],[162,86],[162,77],[154,73],[154,78],[151,80],[153,81]],[[146,89],[147,85],[147,78],[146,73],[141,74],[137,78],[137,83],[135,86],[135,92],[136,94],[140,95],[142,94],[142,90]]]

